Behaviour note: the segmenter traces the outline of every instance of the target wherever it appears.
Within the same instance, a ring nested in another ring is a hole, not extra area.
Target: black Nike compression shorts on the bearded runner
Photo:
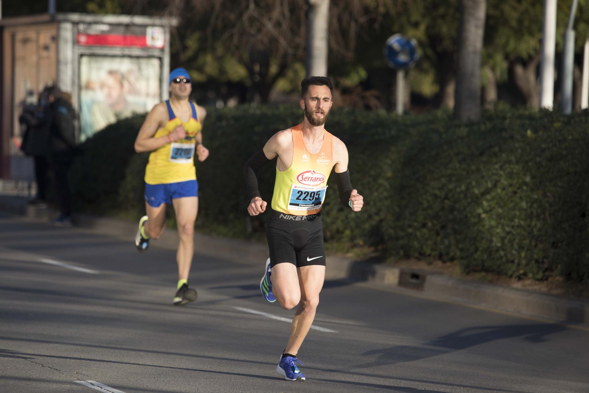
[[[289,262],[296,267],[325,266],[320,214],[295,216],[272,211],[266,228],[270,267]]]

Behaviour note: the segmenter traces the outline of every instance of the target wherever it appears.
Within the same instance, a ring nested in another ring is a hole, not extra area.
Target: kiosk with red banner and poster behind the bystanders
[[[55,84],[78,114],[78,142],[167,98],[176,18],[57,13],[0,19],[0,179],[32,176],[19,115]]]

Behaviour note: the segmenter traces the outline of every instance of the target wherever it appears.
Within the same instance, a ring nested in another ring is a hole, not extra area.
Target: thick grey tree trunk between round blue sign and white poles
[[[454,116],[458,120],[481,117],[481,57],[485,32],[486,0],[461,0],[458,32],[458,67]]]

